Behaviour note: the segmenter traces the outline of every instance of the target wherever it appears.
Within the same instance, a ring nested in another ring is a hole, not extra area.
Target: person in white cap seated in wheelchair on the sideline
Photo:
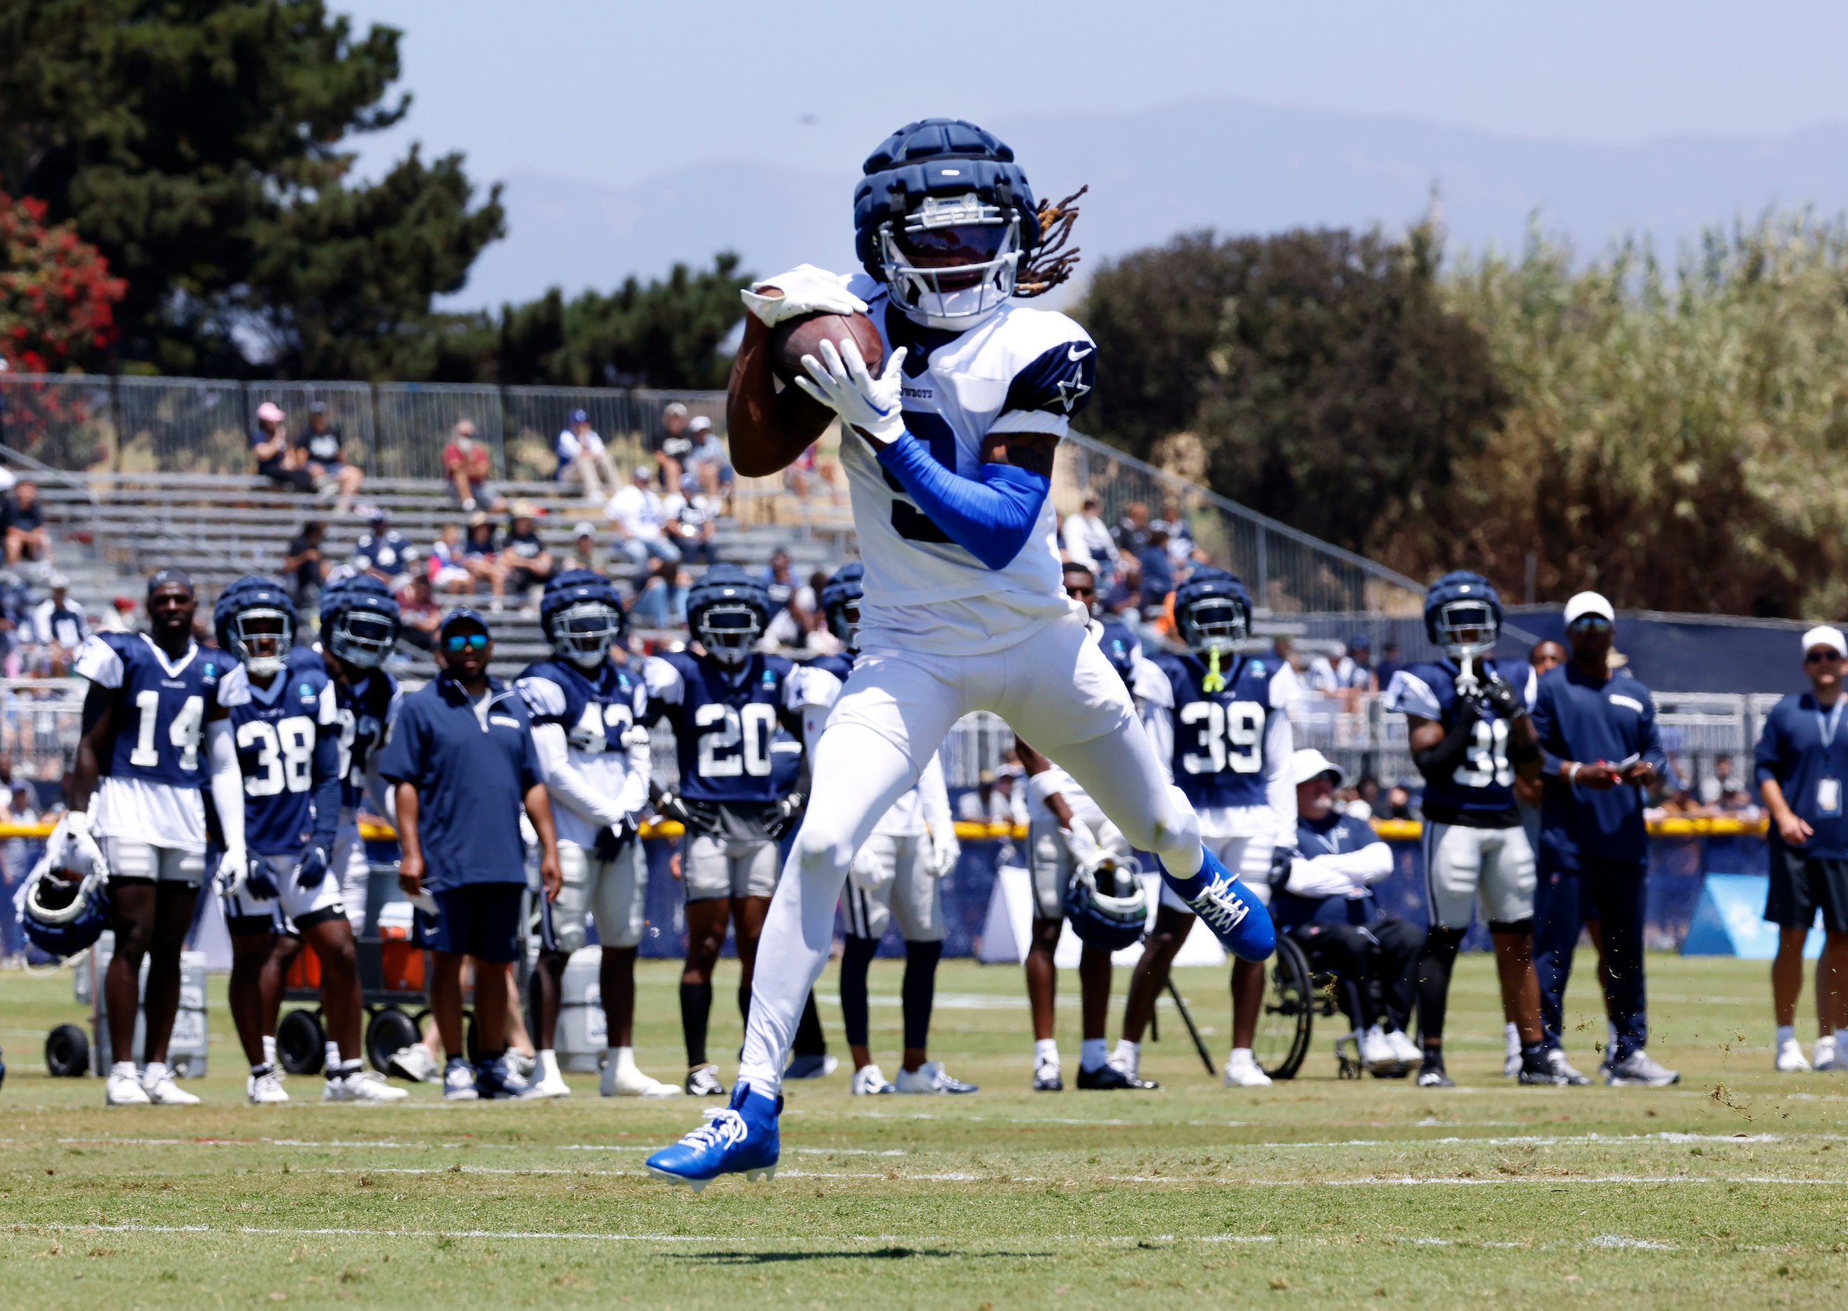
[[[1295,939],[1316,974],[1334,974],[1336,999],[1353,1024],[1334,1043],[1343,1072],[1366,1067],[1380,1078],[1403,1076],[1419,1060],[1404,1024],[1425,936],[1379,913],[1371,884],[1392,873],[1392,849],[1368,821],[1334,808],[1340,767],[1319,751],[1297,751],[1290,778],[1299,854],[1284,882],[1271,888],[1271,919]]]

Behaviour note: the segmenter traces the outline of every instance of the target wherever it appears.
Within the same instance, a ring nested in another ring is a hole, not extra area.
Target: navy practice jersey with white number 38
[[[294,856],[314,828],[314,756],[323,732],[338,732],[325,671],[283,669],[259,688],[238,666],[220,703],[244,775],[244,845],[259,856]],[[325,775],[323,775],[325,777]]]

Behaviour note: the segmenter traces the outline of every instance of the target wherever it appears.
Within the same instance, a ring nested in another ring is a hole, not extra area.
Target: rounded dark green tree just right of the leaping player
[[[1504,403],[1482,333],[1438,283],[1438,233],[1210,233],[1105,264],[1100,436],[1149,457],[1192,431],[1209,484],[1355,551],[1443,499]]]

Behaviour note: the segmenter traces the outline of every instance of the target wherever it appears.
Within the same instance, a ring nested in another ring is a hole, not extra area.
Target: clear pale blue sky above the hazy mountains
[[[1848,6],[1815,0],[333,7],[407,33],[416,107],[366,146],[368,172],[410,139],[466,150],[479,178],[630,185],[711,161],[833,172],[909,116],[1188,100],[1606,144],[1848,120]]]

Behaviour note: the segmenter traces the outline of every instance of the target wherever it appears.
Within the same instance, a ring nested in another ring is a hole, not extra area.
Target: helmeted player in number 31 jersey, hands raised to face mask
[[[1514,769],[1539,756],[1534,669],[1489,660],[1501,634],[1501,597],[1478,573],[1445,573],[1425,594],[1425,632],[1443,647],[1436,664],[1399,669],[1382,705],[1404,714],[1412,762],[1425,775],[1425,899],[1430,928],[1417,958],[1419,1087],[1451,1087],[1443,1069],[1443,1011],[1451,965],[1477,899],[1495,943],[1502,1004],[1521,1034],[1523,1084],[1587,1084],[1549,1047],[1534,974],[1534,849],[1514,801]]]

